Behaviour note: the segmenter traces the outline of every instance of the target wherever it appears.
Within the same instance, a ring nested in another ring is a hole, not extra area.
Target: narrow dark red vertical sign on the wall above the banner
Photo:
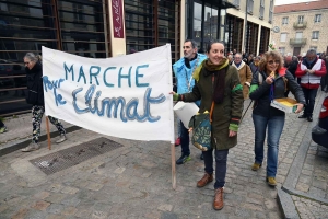
[[[122,1],[112,0],[112,19],[114,38],[124,38]]]

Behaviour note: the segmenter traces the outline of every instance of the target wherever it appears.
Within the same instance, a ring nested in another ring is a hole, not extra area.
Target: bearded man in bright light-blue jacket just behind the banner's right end
[[[207,59],[207,56],[198,53],[197,43],[192,39],[186,39],[184,43],[184,57],[173,65],[173,71],[177,80],[177,93],[191,92],[195,85],[192,72],[204,59]],[[179,128],[181,157],[176,161],[176,164],[183,164],[190,160],[188,129],[183,122],[180,122]]]

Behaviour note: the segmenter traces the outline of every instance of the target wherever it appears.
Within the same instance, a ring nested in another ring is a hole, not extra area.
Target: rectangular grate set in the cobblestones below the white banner
[[[102,137],[30,160],[30,162],[45,174],[50,175],[120,147],[122,145]]]

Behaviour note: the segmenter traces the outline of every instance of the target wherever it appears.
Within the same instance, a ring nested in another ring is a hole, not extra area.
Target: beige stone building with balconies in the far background
[[[282,55],[328,53],[328,0],[274,7],[272,39]]]

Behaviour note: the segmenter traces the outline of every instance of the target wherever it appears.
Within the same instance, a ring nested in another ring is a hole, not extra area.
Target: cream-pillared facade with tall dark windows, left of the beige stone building
[[[226,48],[259,55],[268,50],[274,0],[229,0],[226,10]]]

